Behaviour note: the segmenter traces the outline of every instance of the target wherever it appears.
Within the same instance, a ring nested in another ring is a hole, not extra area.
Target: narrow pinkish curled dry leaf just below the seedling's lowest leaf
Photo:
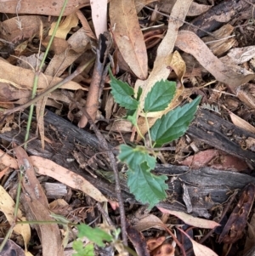
[[[195,218],[191,216],[190,214],[183,213],[183,212],[177,212],[177,211],[172,211],[172,210],[167,210],[165,208],[158,208],[162,213],[168,213],[172,214],[178,219],[181,219],[184,221],[184,223],[188,225],[193,225],[198,228],[202,229],[214,229],[215,227],[218,227],[219,224],[215,221],[208,220],[208,219],[200,219],[200,218]]]

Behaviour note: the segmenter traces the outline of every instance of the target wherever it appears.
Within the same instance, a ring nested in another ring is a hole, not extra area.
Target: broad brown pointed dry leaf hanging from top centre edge
[[[140,79],[148,75],[148,57],[133,1],[111,0],[110,20],[114,40],[123,59]]]

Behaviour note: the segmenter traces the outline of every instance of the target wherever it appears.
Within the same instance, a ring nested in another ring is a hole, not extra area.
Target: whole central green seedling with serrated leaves
[[[133,126],[139,132],[137,124],[138,112],[141,108],[139,98],[142,89],[135,95],[133,88],[127,82],[122,82],[111,77],[111,94],[116,103],[127,109],[127,120],[132,122]],[[159,81],[151,88],[144,99],[144,117],[148,123],[147,114],[149,112],[164,111],[173,100],[176,92],[176,82]],[[166,190],[167,176],[154,175],[150,171],[156,167],[156,153],[151,151],[154,147],[169,143],[178,139],[188,129],[190,122],[195,117],[197,106],[201,97],[197,97],[192,102],[184,106],[178,106],[173,111],[167,112],[161,118],[157,119],[152,128],[148,129],[150,139],[150,148],[137,145],[120,145],[118,158],[127,164],[127,186],[135,198],[143,203],[149,203],[149,208],[153,208],[158,202],[167,197]],[[149,125],[148,125],[149,128]],[[144,139],[144,138],[143,138]]]

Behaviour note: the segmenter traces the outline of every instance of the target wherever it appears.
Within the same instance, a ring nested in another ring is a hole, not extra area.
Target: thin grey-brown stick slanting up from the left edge
[[[55,89],[64,85],[65,82],[70,82],[74,77],[77,77],[77,75],[79,75],[84,69],[86,69],[88,67],[88,65],[91,65],[94,62],[94,59],[95,58],[92,58],[91,60],[88,61],[88,63],[78,67],[76,71],[74,71],[70,76],[65,77],[65,79],[63,81],[61,81],[61,82],[55,84],[54,86],[46,89],[45,91],[42,92],[42,94],[39,94],[37,97],[33,98],[32,100],[27,101],[25,104],[14,107],[11,110],[3,111],[3,115],[4,115],[3,119],[8,115],[13,114],[14,112],[23,111],[24,109],[26,109],[26,107],[30,106],[31,104],[35,104],[38,100],[41,100],[44,96],[52,93]],[[3,122],[3,119],[0,121],[0,123]]]

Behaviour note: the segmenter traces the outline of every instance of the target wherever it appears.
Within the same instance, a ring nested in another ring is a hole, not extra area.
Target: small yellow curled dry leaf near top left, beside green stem
[[[59,37],[65,39],[69,31],[71,31],[72,27],[78,25],[78,17],[77,14],[70,14],[65,17],[65,19],[60,23],[58,30],[56,31],[55,37]],[[52,36],[54,28],[56,26],[56,22],[53,22],[50,30],[48,31],[48,36]]]

